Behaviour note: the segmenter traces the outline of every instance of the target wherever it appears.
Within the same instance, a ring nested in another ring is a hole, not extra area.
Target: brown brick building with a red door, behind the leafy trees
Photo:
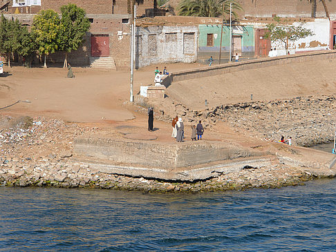
[[[137,16],[153,9],[154,0],[139,0]],[[75,3],[84,8],[91,28],[84,38],[82,48],[71,52],[68,60],[74,66],[102,66],[105,68],[129,68],[131,35],[131,1],[127,0],[0,0],[0,10],[7,17],[18,18],[30,26],[39,10],[60,12],[61,6]],[[64,53],[48,55],[49,62],[60,64]]]

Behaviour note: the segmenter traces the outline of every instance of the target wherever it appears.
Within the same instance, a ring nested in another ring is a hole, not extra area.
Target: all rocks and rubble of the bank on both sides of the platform
[[[292,136],[301,146],[330,142],[335,130],[336,98],[297,97],[281,101],[254,101],[218,106],[204,111],[186,110],[185,119],[203,118],[209,126],[218,120],[238,130],[248,130],[266,141]],[[164,118],[162,118],[164,119]],[[106,188],[143,192],[206,192],[279,188],[331,175],[314,173],[284,164],[245,168],[239,173],[218,174],[205,181],[170,182],[144,177],[101,173],[71,158],[73,139],[97,127],[64,124],[44,117],[2,116],[0,123],[0,184],[2,186],[55,186],[62,188]],[[109,132],[110,135],[118,134]]]

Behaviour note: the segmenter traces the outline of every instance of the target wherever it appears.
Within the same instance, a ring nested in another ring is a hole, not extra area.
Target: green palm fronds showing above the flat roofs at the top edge
[[[236,0],[183,0],[178,5],[178,14],[180,16],[219,17],[221,14],[230,14],[230,3],[232,3],[232,14],[238,17],[236,10],[243,10],[243,8]]]

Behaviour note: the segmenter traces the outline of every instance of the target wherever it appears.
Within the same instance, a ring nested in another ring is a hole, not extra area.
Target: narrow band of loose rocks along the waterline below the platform
[[[143,177],[127,177],[124,175],[100,173],[100,171],[89,167],[87,164],[73,163],[68,158],[64,158],[59,162],[49,162],[46,159],[41,159],[38,162],[39,164],[35,164],[34,166],[25,166],[23,165],[25,160],[20,159],[3,162],[0,165],[1,185],[105,188],[156,193],[197,193],[296,186],[308,180],[323,177],[311,171],[299,171],[289,167],[274,166],[243,169],[239,173],[218,175],[218,177],[206,181],[189,183],[167,182],[148,180]]]

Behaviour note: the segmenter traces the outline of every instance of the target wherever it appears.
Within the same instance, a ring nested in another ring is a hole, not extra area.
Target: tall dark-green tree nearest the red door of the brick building
[[[68,53],[77,50],[82,44],[84,35],[90,29],[90,21],[85,10],[73,3],[61,7],[61,33],[60,50],[65,51],[64,68],[68,64]]]

